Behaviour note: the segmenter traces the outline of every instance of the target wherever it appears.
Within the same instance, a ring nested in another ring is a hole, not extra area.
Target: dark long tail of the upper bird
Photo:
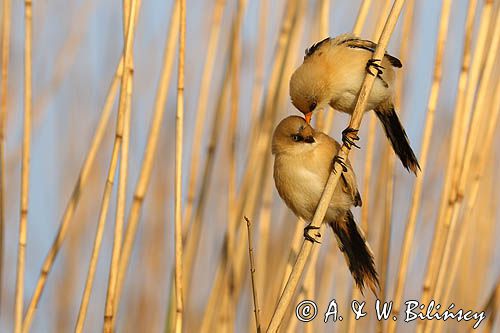
[[[420,170],[417,157],[411,149],[410,142],[406,136],[406,132],[399,121],[398,115],[394,110],[392,103],[384,103],[375,108],[375,114],[384,125],[385,134],[392,144],[392,148],[396,155],[399,156],[401,163],[407,170],[413,171],[416,175],[417,170]]]

